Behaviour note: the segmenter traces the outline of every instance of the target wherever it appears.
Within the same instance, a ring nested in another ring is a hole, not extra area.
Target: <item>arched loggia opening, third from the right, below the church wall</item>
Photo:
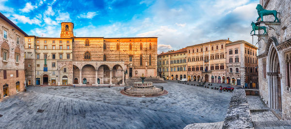
[[[95,84],[95,80],[96,80],[96,69],[93,65],[91,64],[86,64],[82,67],[81,69],[82,73],[81,73],[81,80],[83,80],[84,78],[86,78],[86,84]]]

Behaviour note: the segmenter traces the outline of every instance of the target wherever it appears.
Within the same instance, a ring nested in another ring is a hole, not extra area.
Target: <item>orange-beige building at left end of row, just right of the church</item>
[[[158,55],[158,73],[165,80],[187,78],[187,49],[171,50]]]

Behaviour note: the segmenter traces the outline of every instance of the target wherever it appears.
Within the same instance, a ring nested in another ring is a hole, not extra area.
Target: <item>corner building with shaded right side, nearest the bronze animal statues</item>
[[[226,84],[258,87],[257,49],[242,40],[226,44]]]

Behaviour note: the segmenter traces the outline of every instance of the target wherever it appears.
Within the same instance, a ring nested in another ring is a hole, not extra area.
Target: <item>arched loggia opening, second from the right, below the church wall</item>
[[[111,68],[106,64],[101,64],[97,67],[97,77],[100,80],[100,84],[110,84],[110,72]]]

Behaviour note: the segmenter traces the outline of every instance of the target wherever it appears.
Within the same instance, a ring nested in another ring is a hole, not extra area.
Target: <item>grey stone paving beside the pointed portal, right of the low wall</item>
[[[291,120],[279,120],[259,96],[247,96],[255,129],[291,129]]]

